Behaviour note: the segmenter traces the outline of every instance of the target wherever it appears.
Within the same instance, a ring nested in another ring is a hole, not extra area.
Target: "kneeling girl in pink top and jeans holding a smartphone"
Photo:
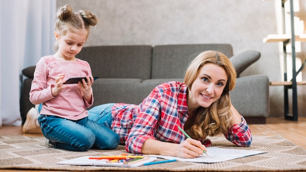
[[[43,103],[38,121],[46,144],[54,148],[86,151],[114,149],[119,144],[117,134],[88,119],[93,77],[89,64],[75,58],[87,40],[89,26],[97,21],[89,11],[74,13],[69,5],[59,8],[54,32],[56,53],[42,57],[36,64],[30,101]],[[87,82],[82,79],[78,84],[64,84],[69,78],[85,76]]]

